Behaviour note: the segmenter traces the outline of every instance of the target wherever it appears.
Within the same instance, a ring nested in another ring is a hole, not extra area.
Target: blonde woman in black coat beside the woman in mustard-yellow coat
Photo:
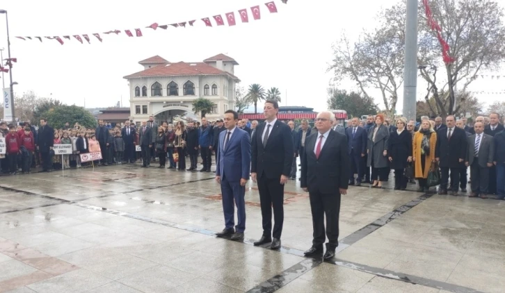
[[[407,187],[407,180],[404,176],[405,168],[408,162],[412,162],[412,135],[406,131],[405,126],[407,120],[403,117],[396,120],[395,131],[390,133],[390,140],[388,141],[390,166],[394,169],[394,189],[405,190]]]

